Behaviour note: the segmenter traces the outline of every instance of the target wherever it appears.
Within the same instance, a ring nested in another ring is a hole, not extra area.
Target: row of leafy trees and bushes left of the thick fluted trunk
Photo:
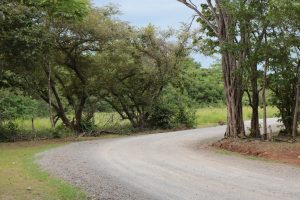
[[[42,100],[53,128],[61,122],[76,134],[90,131],[102,109],[136,130],[193,127],[195,105],[222,102],[220,70],[189,57],[186,27],[137,29],[119,20],[116,8],[85,0],[4,0],[0,14],[2,91],[12,101],[30,97],[30,105],[23,101],[30,109]]]

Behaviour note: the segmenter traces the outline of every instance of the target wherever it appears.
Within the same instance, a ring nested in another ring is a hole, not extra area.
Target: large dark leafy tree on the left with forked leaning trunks
[[[66,127],[80,133],[83,121],[93,116],[86,109],[93,92],[89,79],[97,67],[93,56],[95,52],[105,50],[107,42],[118,34],[117,26],[121,23],[111,19],[115,13],[111,8],[94,9],[77,18],[77,7],[74,7],[76,11],[67,12],[74,15],[65,16],[58,12],[56,17],[52,9],[51,15],[44,16],[50,11],[47,10],[49,7],[43,6],[39,3],[1,4],[6,16],[2,23],[7,27],[2,32],[5,37],[0,41],[3,47],[1,66],[12,72],[11,84],[38,95],[47,103],[53,96],[51,106],[55,121],[61,119]],[[53,18],[49,20],[49,16]],[[70,110],[73,110],[71,115]]]

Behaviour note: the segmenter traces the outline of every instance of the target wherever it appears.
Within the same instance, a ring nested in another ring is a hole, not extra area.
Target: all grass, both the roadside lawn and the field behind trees
[[[268,108],[268,117],[275,117],[277,110]],[[260,115],[261,115],[260,110]],[[251,117],[251,108],[244,108],[244,119]],[[213,126],[218,122],[226,121],[226,108],[201,108],[196,112],[198,127]],[[31,131],[31,120],[16,120],[22,130]],[[97,113],[95,123],[98,127],[112,130],[131,129],[128,120],[121,120],[117,113]],[[48,132],[51,129],[48,118],[36,118],[35,129]],[[119,137],[118,135],[105,135],[103,138]],[[85,138],[88,139],[88,138]],[[78,188],[56,179],[43,172],[34,163],[35,154],[54,148],[66,141],[53,140],[44,142],[0,143],[0,200],[82,200],[85,194]],[[220,152],[221,153],[221,152]],[[223,154],[232,154],[222,151]],[[249,159],[257,159],[249,156]],[[31,189],[27,189],[31,188]]]

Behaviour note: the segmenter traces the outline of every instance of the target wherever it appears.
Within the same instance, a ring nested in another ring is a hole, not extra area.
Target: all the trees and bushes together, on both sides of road
[[[77,134],[93,127],[101,109],[143,130],[192,127],[194,106],[225,102],[226,136],[245,136],[247,102],[252,137],[261,136],[258,108],[266,116],[267,105],[278,108],[283,133],[295,137],[299,2],[179,2],[195,11],[199,30],[135,28],[117,18],[116,8],[86,0],[3,0],[1,89],[44,101],[52,127],[62,122]],[[221,55],[221,66],[201,68],[192,49]]]

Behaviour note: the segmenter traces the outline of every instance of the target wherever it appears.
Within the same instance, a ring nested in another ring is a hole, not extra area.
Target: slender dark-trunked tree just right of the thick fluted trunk
[[[235,15],[249,31],[246,59],[243,63],[244,90],[249,98],[249,105],[252,108],[250,137],[260,138],[259,127],[259,93],[264,87],[259,89],[259,78],[261,73],[258,65],[265,61],[264,38],[269,22],[268,3],[266,1],[249,1],[244,3],[241,9],[237,9]]]

